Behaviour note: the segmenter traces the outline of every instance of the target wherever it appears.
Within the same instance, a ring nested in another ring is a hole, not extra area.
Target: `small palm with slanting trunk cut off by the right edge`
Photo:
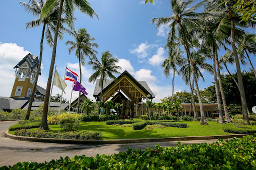
[[[256,77],[256,72],[255,69],[250,61],[250,57],[248,55],[249,54],[256,54],[256,35],[255,34],[251,34],[251,33],[245,33],[245,35],[243,36],[243,38],[239,38],[238,39],[238,50],[237,52],[241,55],[242,53],[245,52],[251,69]],[[244,54],[243,54],[244,55]]]

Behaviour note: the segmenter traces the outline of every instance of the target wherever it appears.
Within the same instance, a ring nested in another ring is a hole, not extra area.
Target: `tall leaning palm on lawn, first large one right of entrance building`
[[[175,34],[176,34],[176,28],[179,27],[181,31],[181,38],[184,42],[184,48],[187,54],[188,61],[191,60],[190,56],[190,46],[189,41],[191,40],[190,35],[188,34],[187,28],[188,27],[195,27],[198,26],[196,17],[199,15],[198,13],[195,13],[194,11],[203,5],[203,1],[199,2],[192,7],[188,7],[191,3],[193,3],[195,0],[170,0],[170,6],[172,10],[172,15],[169,17],[161,17],[161,18],[153,18],[151,20],[151,23],[156,23],[156,27],[159,27],[160,25],[166,25],[169,24],[170,31],[168,33],[168,42],[172,42],[174,40]],[[190,62],[191,71],[193,75],[193,80],[195,84],[196,94],[200,106],[200,114],[201,114],[201,124],[205,125],[207,124],[205,118],[204,118],[204,112],[203,112],[203,106],[201,102],[201,96],[199,93],[199,87],[195,76],[195,70],[193,65]]]

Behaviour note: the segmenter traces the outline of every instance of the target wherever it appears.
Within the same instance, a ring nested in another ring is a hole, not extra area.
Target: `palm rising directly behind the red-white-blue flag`
[[[84,66],[85,64],[85,57],[89,57],[89,59],[95,58],[97,51],[95,51],[92,47],[97,48],[98,44],[96,43],[91,43],[91,41],[94,41],[95,39],[90,36],[90,34],[87,33],[85,28],[79,28],[78,32],[74,30],[73,32],[74,40],[73,41],[66,41],[65,45],[70,45],[68,48],[69,54],[75,50],[75,55],[78,58],[78,63],[79,63],[79,72],[80,72],[80,83],[82,79],[82,72],[81,72],[81,65]],[[80,106],[80,95],[81,92],[79,92],[78,95],[78,103],[77,103],[77,113],[79,112],[79,106]]]

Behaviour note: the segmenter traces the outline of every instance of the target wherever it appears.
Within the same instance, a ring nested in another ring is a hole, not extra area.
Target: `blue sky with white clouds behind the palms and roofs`
[[[26,0],[24,0],[27,2]],[[42,26],[25,29],[25,23],[33,19],[18,0],[0,1],[0,96],[10,96],[14,82],[14,72],[12,69],[28,52],[39,55],[40,38]],[[122,67],[120,72],[127,70],[136,80],[145,80],[156,98],[153,102],[159,102],[165,96],[171,95],[172,75],[166,78],[160,67],[164,58],[167,57],[166,44],[167,26],[155,28],[155,24],[150,24],[154,17],[166,17],[171,15],[169,0],[154,0],[154,3],[144,4],[143,0],[88,0],[91,7],[97,13],[99,19],[89,18],[87,15],[75,12],[75,29],[84,27],[88,33],[95,38],[95,43],[99,45],[96,49],[97,57],[101,52],[109,50],[111,54],[119,58],[118,65]],[[199,2],[196,1],[196,2]],[[255,30],[248,30],[253,32]],[[58,73],[64,76],[64,68],[78,73],[78,60],[74,52],[69,55],[67,40],[73,37],[64,35],[63,40],[58,40],[55,65]],[[46,88],[49,64],[52,49],[43,43],[42,54],[42,75],[39,76],[38,85]],[[221,56],[224,51],[219,51]],[[256,62],[255,57],[251,57],[252,63]],[[86,59],[88,61],[88,59]],[[207,63],[212,63],[211,60]],[[228,65],[231,72],[234,72],[235,65]],[[249,65],[242,70],[249,70]],[[222,72],[226,70],[222,70]],[[88,97],[94,100],[92,93],[94,85],[88,83],[88,77],[92,74],[91,67],[85,65],[82,68],[82,85],[86,88]],[[205,82],[199,80],[199,89],[204,89],[211,85],[213,76],[202,70]],[[65,98],[70,99],[71,82],[66,82]],[[189,91],[181,77],[175,76],[174,91]],[[57,87],[53,87],[52,95],[60,93]],[[78,92],[73,92],[72,100],[78,96]]]

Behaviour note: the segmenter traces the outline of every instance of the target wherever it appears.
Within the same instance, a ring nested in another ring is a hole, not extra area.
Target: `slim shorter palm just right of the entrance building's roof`
[[[182,53],[183,51],[181,51],[179,47],[176,47],[174,50],[170,50],[169,48],[168,57],[163,61],[161,65],[161,67],[164,68],[163,74],[166,77],[169,77],[170,70],[173,71],[171,103],[173,102],[175,72],[178,73],[177,66],[181,67],[185,63],[185,58],[183,58]]]

